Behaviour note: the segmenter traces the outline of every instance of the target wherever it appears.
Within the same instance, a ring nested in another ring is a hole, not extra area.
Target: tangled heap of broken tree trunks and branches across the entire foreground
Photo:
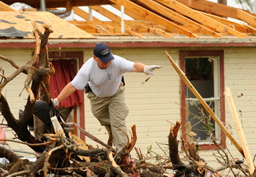
[[[221,165],[218,169],[210,168],[198,154],[198,146],[194,142],[187,142],[181,138],[181,143],[177,139],[181,123],[177,122],[169,131],[169,156],[164,163],[151,164],[146,162],[139,148],[135,148],[138,154],[138,160],[130,157],[130,152],[136,144],[136,127],[132,126],[131,140],[124,148],[116,154],[114,149],[103,143],[93,135],[90,135],[78,125],[77,128],[85,133],[97,143],[103,145],[104,148],[94,148],[87,145],[88,149],[80,148],[81,139],[74,139],[75,135],[71,135],[63,129],[64,122],[57,117],[56,124],[50,122],[43,130],[42,135],[32,133],[28,128],[31,122],[38,121],[38,117],[34,114],[36,105],[36,96],[41,91],[41,99],[46,105],[51,105],[49,88],[50,75],[54,73],[54,68],[48,60],[48,36],[52,32],[48,25],[44,25],[44,32],[40,32],[36,23],[34,26],[34,36],[36,39],[36,48],[32,59],[24,64],[17,66],[11,58],[0,56],[1,60],[9,62],[15,72],[11,76],[5,76],[3,68],[1,68],[0,81],[0,112],[7,121],[7,127],[10,127],[17,134],[17,139],[0,139],[0,141],[15,141],[28,145],[32,150],[39,154],[36,162],[29,162],[26,159],[19,158],[15,153],[0,146],[0,157],[7,158],[9,163],[1,164],[1,176],[48,176],[48,174],[57,174],[63,176],[220,176],[220,171],[230,168],[237,169],[245,176],[249,176],[246,166],[239,160],[232,160],[228,154],[222,150],[218,143],[212,137],[212,142],[216,143],[221,158],[217,158]],[[28,92],[28,100],[23,113],[19,119],[16,119],[9,108],[9,103],[1,93],[4,86],[20,73],[27,74],[24,87]],[[30,88],[31,85],[31,88]],[[51,116],[56,116],[53,107]],[[204,114],[204,113],[202,113]],[[204,118],[209,119],[209,117]],[[204,121],[207,125],[208,121]],[[58,127],[54,129],[52,127]],[[210,127],[210,125],[208,125]],[[34,126],[36,129],[36,126]],[[61,131],[60,131],[61,130]],[[50,132],[50,133],[49,133]],[[211,132],[210,132],[211,133]],[[129,137],[127,135],[127,137]],[[75,137],[78,138],[78,137]],[[182,148],[182,152],[179,150]],[[181,158],[181,154],[183,158]],[[158,157],[159,158],[159,157]],[[168,173],[171,170],[170,173]],[[173,170],[173,171],[172,171]],[[233,171],[232,171],[233,172]],[[237,174],[233,172],[233,174]]]

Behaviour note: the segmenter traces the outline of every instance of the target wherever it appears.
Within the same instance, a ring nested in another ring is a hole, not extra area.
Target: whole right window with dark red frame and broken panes
[[[222,50],[180,51],[181,70],[193,84],[201,97],[206,101],[216,116],[224,122],[224,62]],[[206,133],[205,124],[202,122],[202,109],[204,115],[209,114],[200,101],[191,93],[185,83],[181,81],[181,117],[182,129],[186,133],[194,132],[194,139],[198,141],[200,150],[215,148],[210,143],[211,139]],[[210,119],[213,134],[222,148],[224,148],[224,133]],[[187,141],[195,141],[191,136],[183,133]]]

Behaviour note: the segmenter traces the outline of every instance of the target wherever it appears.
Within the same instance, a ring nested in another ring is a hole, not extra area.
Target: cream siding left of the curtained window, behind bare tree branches
[[[11,58],[17,64],[17,66],[23,66],[32,58],[32,52],[34,50],[19,50],[19,49],[13,49],[13,50],[3,50],[0,49],[0,55],[5,56],[8,58]],[[13,72],[15,72],[15,68],[9,64],[9,62],[5,62],[3,60],[0,60],[0,67],[2,67],[5,70],[5,76],[9,77]],[[1,73],[2,74],[2,73]],[[24,82],[26,79],[26,74],[19,74],[17,77],[15,77],[13,80],[11,80],[2,91],[2,94],[5,96],[5,99],[7,99],[9,103],[9,107],[11,109],[11,112],[13,113],[13,116],[16,119],[19,119],[19,109],[24,110],[24,106],[26,105],[27,99],[28,99],[28,93],[26,90],[24,90]],[[20,95],[20,97],[19,97]],[[0,116],[0,121],[2,121],[3,116]],[[15,138],[15,132],[11,129],[7,129],[5,131],[6,136],[8,139]],[[18,139],[16,139],[18,140]],[[13,143],[8,141],[7,142],[11,150],[19,150],[24,152],[33,152],[28,145],[22,145],[20,143]],[[34,157],[32,154],[24,154],[24,153],[18,153],[19,156],[30,156]]]

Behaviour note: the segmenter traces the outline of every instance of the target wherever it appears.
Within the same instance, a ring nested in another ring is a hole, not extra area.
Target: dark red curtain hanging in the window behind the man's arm
[[[52,65],[55,68],[55,73],[50,76],[50,96],[52,99],[56,98],[62,88],[64,88],[75,77],[73,68],[73,60],[54,60]],[[82,103],[78,91],[71,94],[64,101],[60,103],[60,107],[75,107]]]

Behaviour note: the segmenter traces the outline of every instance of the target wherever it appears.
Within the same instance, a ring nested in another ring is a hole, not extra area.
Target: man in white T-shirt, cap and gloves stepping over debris
[[[146,66],[140,62],[131,62],[120,56],[111,54],[110,48],[98,43],[93,48],[90,58],[53,100],[55,107],[77,90],[83,90],[89,84],[87,97],[91,101],[91,111],[101,125],[105,126],[110,137],[113,135],[116,151],[122,150],[127,143],[126,117],[128,107],[124,99],[124,83],[122,74],[125,72],[144,72],[153,74],[158,65]]]

